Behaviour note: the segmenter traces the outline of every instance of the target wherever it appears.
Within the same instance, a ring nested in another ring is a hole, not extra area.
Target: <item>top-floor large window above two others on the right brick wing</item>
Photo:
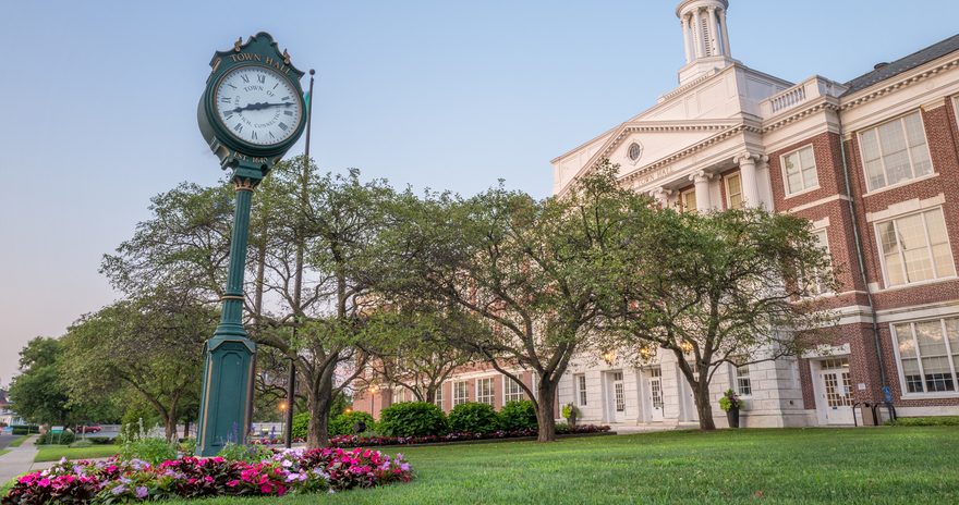
[[[859,140],[871,192],[933,172],[919,112],[866,130]]]

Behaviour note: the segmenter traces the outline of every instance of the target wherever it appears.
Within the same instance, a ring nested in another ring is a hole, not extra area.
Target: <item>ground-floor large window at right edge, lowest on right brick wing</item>
[[[907,393],[956,391],[959,318],[894,324]]]

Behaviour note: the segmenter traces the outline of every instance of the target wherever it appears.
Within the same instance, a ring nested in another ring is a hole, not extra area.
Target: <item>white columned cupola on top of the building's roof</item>
[[[683,0],[676,8],[682,26],[685,66],[679,71],[679,84],[685,84],[715,69],[732,63],[729,33],[726,29],[727,0]]]

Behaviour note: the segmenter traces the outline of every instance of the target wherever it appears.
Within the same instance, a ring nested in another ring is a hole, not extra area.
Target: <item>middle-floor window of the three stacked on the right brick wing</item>
[[[878,223],[876,232],[886,286],[956,274],[942,208]]]

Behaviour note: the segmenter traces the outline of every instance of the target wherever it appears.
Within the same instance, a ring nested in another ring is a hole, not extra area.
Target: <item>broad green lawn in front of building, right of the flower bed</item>
[[[396,449],[409,484],[202,505],[959,503],[959,428],[723,430]],[[180,505],[197,502],[168,502]]]

